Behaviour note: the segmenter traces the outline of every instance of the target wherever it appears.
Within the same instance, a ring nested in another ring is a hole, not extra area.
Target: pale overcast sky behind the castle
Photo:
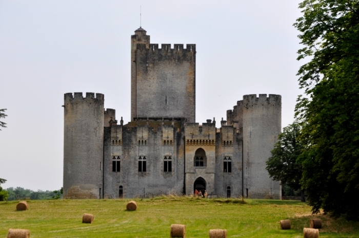
[[[216,118],[246,94],[282,95],[282,126],[293,121],[301,45],[294,0],[0,0],[0,131],[3,187],[63,184],[64,93],[105,94],[130,121],[130,39],[196,44],[196,121]],[[85,94],[84,94],[85,95]]]

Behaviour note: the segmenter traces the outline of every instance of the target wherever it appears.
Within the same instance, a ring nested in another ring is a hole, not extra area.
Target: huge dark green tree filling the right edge
[[[359,2],[305,0],[300,8],[297,59],[310,59],[298,71],[302,186],[313,213],[359,220]]]

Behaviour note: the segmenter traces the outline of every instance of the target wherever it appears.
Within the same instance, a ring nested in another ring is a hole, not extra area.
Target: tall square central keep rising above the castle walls
[[[131,36],[131,121],[186,118],[195,122],[196,45],[150,44],[138,28]]]

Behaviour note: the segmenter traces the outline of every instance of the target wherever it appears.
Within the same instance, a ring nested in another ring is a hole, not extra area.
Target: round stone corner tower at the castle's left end
[[[64,198],[101,198],[104,95],[66,93],[64,109]]]

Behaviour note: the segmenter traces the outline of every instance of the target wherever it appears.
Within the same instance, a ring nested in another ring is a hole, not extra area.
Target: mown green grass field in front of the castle
[[[359,237],[359,223],[312,216],[297,201],[198,199],[157,197],[135,199],[136,211],[126,211],[129,200],[31,200],[29,210],[15,211],[17,201],[0,202],[0,237],[9,228],[29,229],[30,237],[170,237],[171,224],[186,225],[186,237],[209,237],[210,229],[227,229],[228,237],[303,237],[309,219],[321,218],[320,237]],[[83,224],[83,213],[94,215]],[[279,221],[290,219],[291,230]]]

